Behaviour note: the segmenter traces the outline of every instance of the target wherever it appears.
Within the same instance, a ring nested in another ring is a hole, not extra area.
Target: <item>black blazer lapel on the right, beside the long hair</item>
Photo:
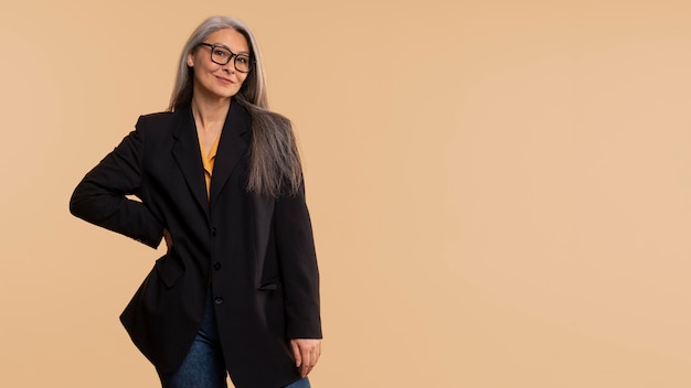
[[[225,117],[225,123],[219,140],[219,149],[216,150],[216,160],[211,174],[211,203],[219,196],[233,169],[245,155],[249,146],[251,130],[252,120],[249,119],[249,114],[233,99],[228,114]]]

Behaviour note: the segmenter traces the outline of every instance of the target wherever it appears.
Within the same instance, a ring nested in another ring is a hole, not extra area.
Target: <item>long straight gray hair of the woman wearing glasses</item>
[[[215,31],[233,29],[247,40],[254,67],[247,74],[234,100],[240,103],[252,117],[252,147],[249,151],[249,179],[247,191],[266,195],[295,195],[302,183],[302,168],[290,120],[268,108],[264,67],[257,41],[249,29],[240,20],[212,17],[202,22],[184,44],[176,85],[168,110],[187,108],[192,104],[194,69],[187,64],[190,53]]]

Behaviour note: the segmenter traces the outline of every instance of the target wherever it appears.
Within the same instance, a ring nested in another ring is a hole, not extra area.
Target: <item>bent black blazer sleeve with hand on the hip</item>
[[[142,126],[139,118],[136,129],[84,176],[72,194],[70,212],[156,248],[163,236],[163,226],[145,202],[126,196],[142,197]]]

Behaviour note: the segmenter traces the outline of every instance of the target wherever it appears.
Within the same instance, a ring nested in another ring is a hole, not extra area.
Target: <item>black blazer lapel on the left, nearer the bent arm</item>
[[[199,149],[199,138],[196,137],[196,126],[192,117],[192,109],[184,108],[179,111],[177,125],[173,129],[173,158],[184,176],[192,196],[202,207],[204,214],[209,215],[209,201],[206,200],[206,182],[204,181],[204,166],[202,164],[202,153]]]

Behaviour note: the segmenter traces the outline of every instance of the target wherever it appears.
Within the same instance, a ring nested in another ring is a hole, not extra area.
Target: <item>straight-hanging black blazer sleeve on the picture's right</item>
[[[319,270],[305,190],[276,200],[276,244],[288,338],[321,338]]]

